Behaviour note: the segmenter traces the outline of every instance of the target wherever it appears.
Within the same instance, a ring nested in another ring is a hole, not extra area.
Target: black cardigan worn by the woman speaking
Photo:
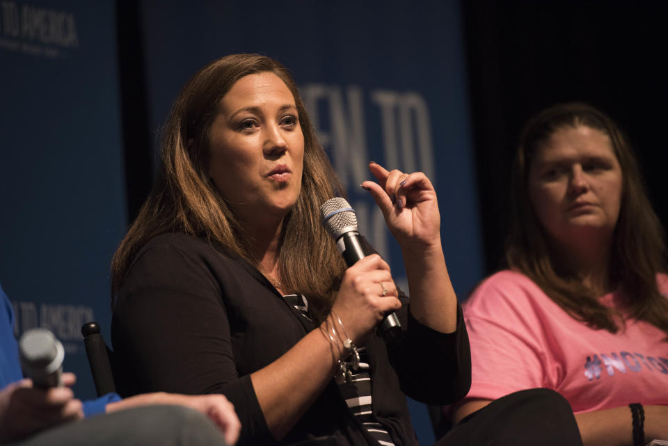
[[[417,440],[404,393],[429,404],[461,399],[470,387],[470,350],[461,308],[456,331],[444,334],[413,319],[408,298],[400,298],[404,333],[388,344],[373,335],[366,347],[374,415],[395,445],[407,446]],[[126,395],[223,393],[241,420],[239,446],[326,435],[340,445],[374,444],[334,380],[285,438],[271,436],[250,374],[312,328],[248,262],[174,233],[154,237],[136,255],[114,306],[111,338]]]

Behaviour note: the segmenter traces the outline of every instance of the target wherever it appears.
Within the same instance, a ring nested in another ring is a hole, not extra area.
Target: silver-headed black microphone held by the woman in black
[[[336,241],[336,246],[348,266],[353,266],[355,262],[367,256],[358,231],[357,214],[344,198],[335,197],[327,200],[320,207],[320,212],[322,224]],[[379,329],[383,335],[397,335],[401,329],[397,314],[395,312],[385,314]]]

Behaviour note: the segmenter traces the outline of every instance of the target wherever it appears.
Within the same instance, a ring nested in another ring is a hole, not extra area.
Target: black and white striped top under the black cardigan
[[[287,294],[283,296],[287,303],[294,306],[302,316],[311,321],[308,314],[308,301],[301,294]],[[349,411],[360,421],[371,436],[382,446],[395,446],[390,433],[376,420],[372,409],[371,389],[372,382],[369,375],[369,355],[365,347],[358,348],[360,355],[360,369],[353,373],[352,382],[347,383],[343,376],[336,376],[341,397],[346,401]]]

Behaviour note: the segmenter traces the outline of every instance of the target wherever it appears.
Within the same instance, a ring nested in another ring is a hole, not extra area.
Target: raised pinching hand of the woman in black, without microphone
[[[416,243],[423,248],[440,246],[438,200],[427,175],[388,171],[374,162],[369,163],[369,170],[378,183],[365,181],[361,186],[376,200],[401,248],[415,248]]]

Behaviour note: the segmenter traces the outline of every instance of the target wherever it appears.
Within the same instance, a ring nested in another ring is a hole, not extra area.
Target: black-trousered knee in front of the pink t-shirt
[[[511,393],[468,415],[436,446],[582,446],[568,401],[548,389]]]

